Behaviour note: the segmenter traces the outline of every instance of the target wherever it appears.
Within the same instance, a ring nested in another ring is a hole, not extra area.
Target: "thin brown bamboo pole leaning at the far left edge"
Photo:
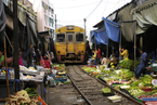
[[[5,77],[6,77],[6,87],[8,87],[8,96],[10,95],[10,84],[9,84],[9,73],[8,73],[8,62],[6,62],[6,42],[4,37],[4,61],[5,61]]]

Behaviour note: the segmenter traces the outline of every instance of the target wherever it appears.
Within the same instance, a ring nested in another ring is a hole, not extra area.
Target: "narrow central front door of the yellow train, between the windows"
[[[67,53],[74,53],[74,34],[67,34]]]

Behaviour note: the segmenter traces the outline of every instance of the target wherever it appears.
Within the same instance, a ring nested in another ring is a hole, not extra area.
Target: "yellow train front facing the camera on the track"
[[[58,63],[83,63],[86,54],[84,29],[73,25],[56,29],[54,45]]]

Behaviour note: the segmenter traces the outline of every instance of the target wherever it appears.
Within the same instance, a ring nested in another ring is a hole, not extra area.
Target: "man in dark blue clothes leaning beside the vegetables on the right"
[[[134,70],[136,79],[139,79],[141,74],[145,71],[145,67],[147,67],[147,53],[144,51],[143,48],[140,48],[140,53],[142,54],[140,65]]]

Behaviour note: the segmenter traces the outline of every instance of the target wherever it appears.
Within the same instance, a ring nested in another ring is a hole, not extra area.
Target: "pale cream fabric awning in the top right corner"
[[[148,0],[132,9],[133,18],[136,19],[136,35],[145,32],[152,25],[157,26],[157,0]]]

